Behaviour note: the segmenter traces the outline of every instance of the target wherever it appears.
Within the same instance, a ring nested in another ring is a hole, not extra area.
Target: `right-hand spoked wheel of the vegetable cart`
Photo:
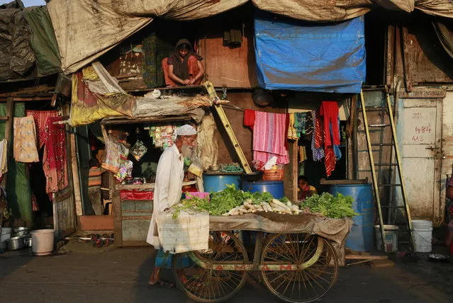
[[[319,258],[315,256],[317,249],[320,253]],[[261,263],[267,265],[305,263],[308,266],[301,270],[262,270],[264,284],[276,297],[286,302],[318,301],[337,280],[338,261],[335,250],[329,241],[320,236],[276,234],[264,245]]]

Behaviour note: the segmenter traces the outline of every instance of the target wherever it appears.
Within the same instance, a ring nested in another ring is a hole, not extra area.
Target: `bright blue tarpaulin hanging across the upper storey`
[[[364,16],[308,23],[259,12],[255,55],[262,88],[359,93],[365,81]]]

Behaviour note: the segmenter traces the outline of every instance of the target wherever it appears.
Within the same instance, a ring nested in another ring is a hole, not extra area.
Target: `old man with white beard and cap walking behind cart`
[[[191,125],[183,125],[177,129],[177,139],[160,156],[157,164],[156,184],[154,190],[154,205],[147,243],[157,251],[155,268],[152,272],[149,285],[157,287],[174,287],[173,283],[160,280],[160,269],[167,268],[171,263],[172,255],[162,251],[159,236],[155,236],[155,216],[161,215],[181,200],[182,181],[184,179],[184,157],[189,157],[196,143],[196,130]]]

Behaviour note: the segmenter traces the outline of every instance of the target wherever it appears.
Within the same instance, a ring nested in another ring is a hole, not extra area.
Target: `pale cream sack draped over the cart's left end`
[[[208,212],[188,213],[181,210],[179,217],[165,212],[156,217],[157,230],[162,249],[170,253],[186,253],[208,249]]]

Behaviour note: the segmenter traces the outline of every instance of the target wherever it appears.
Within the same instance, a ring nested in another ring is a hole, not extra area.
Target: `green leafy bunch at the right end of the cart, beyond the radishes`
[[[330,218],[344,218],[357,216],[357,212],[352,210],[354,198],[350,195],[344,196],[337,193],[337,196],[330,193],[322,195],[312,195],[310,198],[301,202],[301,209],[308,208],[311,212],[319,213]]]

